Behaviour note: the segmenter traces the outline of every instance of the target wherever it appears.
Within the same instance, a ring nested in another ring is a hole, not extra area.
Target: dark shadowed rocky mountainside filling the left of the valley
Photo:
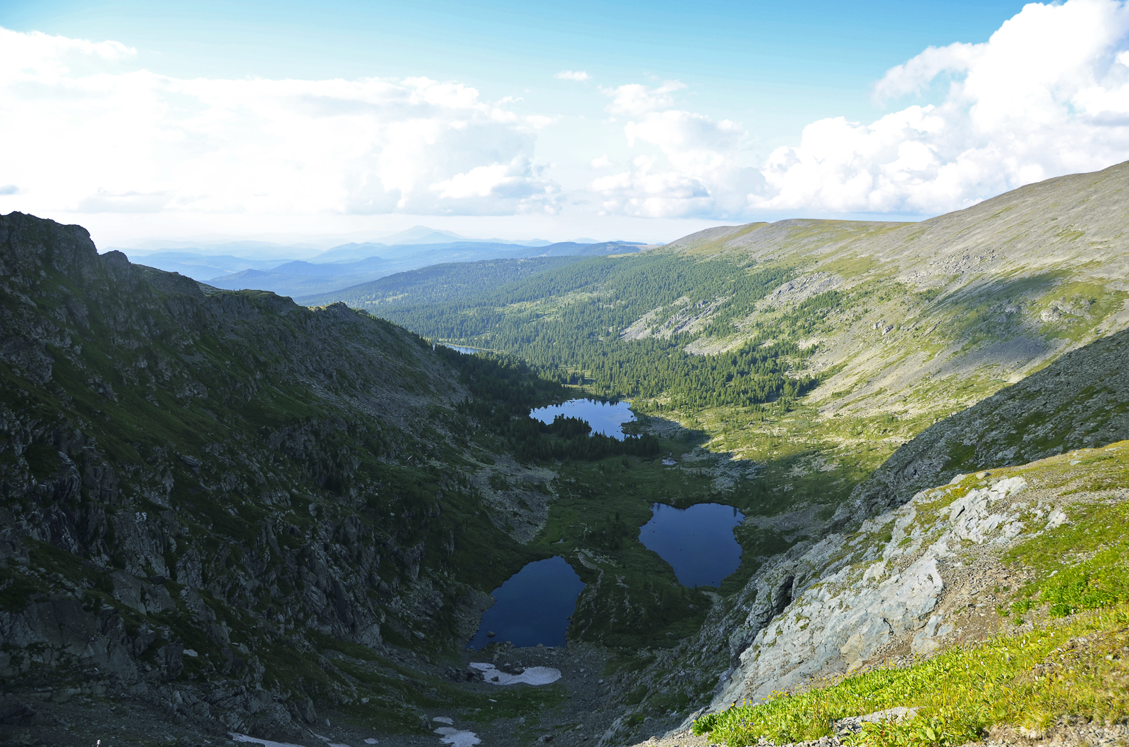
[[[469,638],[507,566],[452,570],[513,541],[460,472],[456,355],[0,217],[3,689],[129,688],[243,731],[352,697],[318,641]]]

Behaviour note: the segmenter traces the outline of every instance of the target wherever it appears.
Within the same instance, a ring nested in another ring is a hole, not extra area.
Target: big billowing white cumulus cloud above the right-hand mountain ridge
[[[750,203],[936,214],[1124,160],[1127,46],[1124,2],[1024,6],[988,42],[930,47],[875,85],[875,97],[889,99],[947,76],[939,103],[870,124],[835,117],[807,125],[798,146],[771,153],[767,188]]]

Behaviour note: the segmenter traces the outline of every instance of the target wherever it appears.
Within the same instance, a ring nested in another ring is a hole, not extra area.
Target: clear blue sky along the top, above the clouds
[[[1022,2],[6,2],[0,26],[115,39],[182,78],[458,80],[524,108],[601,106],[554,80],[677,79],[771,144],[824,116],[870,120],[869,89],[927,46],[986,42]]]

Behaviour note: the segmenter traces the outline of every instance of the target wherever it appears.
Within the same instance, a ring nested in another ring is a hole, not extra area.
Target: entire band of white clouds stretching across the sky
[[[742,125],[689,111],[679,80],[599,88],[609,118],[570,118],[427,78],[170,78],[116,42],[0,28],[0,142],[19,144],[0,149],[0,210],[937,214],[1129,159],[1127,1],[1024,6],[988,42],[929,47],[874,85],[876,102],[920,100],[813,122],[755,162]]]

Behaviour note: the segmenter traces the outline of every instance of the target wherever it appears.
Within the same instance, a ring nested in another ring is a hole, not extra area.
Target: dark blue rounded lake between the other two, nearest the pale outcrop
[[[639,542],[671,564],[679,583],[719,587],[741,565],[733,528],[745,517],[737,509],[720,503],[688,509],[655,503],[650,510],[654,516],[639,529]]]

